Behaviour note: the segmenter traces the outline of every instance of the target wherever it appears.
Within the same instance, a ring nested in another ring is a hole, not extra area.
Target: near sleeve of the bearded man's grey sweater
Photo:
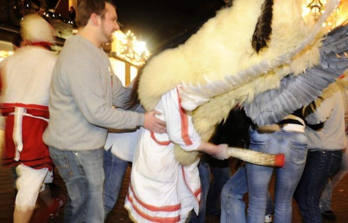
[[[135,128],[143,125],[144,114],[112,109],[107,104],[104,88],[110,83],[104,83],[100,67],[92,57],[80,55],[71,59],[71,64],[80,66],[68,68],[68,86],[76,105],[89,123],[106,128]],[[83,64],[81,61],[84,61]],[[124,94],[124,90],[120,92]]]

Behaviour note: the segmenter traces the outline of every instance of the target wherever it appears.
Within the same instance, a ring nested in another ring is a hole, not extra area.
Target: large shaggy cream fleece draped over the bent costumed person
[[[208,141],[237,103],[251,103],[289,74],[319,63],[322,23],[338,2],[329,1],[319,21],[309,24],[302,17],[302,0],[234,0],[185,44],[148,62],[140,77],[140,102],[152,110],[163,94],[183,84],[182,107],[193,111],[194,126]],[[196,155],[175,149],[183,165]]]

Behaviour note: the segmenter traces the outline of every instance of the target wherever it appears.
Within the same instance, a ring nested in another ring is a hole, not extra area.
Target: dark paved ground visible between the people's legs
[[[57,196],[61,193],[66,193],[64,182],[57,174],[52,185],[52,193]],[[123,208],[124,199],[126,197],[128,184],[130,178],[130,167],[127,168],[125,178],[122,183],[120,191],[120,198],[115,205],[113,211],[109,214],[105,223],[130,223],[127,211]],[[270,191],[272,194],[274,180],[271,182]],[[0,167],[0,223],[12,223],[13,203],[14,203],[14,190],[12,188],[11,172],[7,168]],[[247,201],[247,198],[245,199]],[[337,188],[333,191],[333,210],[337,216],[335,223],[348,223],[348,175],[346,175],[340,182]],[[38,220],[39,214],[42,212],[44,205],[42,202],[38,202],[38,208],[35,210],[34,218]],[[50,223],[62,223],[63,210],[60,211],[59,216],[51,220]],[[38,221],[40,222],[40,220]],[[41,221],[42,222],[42,221]],[[218,223],[219,217],[207,215],[207,223]],[[298,207],[293,202],[293,223],[301,223],[302,219],[298,211]],[[330,223],[330,222],[324,222]]]

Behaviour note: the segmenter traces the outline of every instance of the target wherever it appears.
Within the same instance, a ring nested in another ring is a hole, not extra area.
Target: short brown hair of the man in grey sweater
[[[76,24],[78,27],[86,26],[90,15],[93,13],[103,17],[106,2],[112,4],[116,8],[112,0],[78,0],[78,9],[76,12]]]

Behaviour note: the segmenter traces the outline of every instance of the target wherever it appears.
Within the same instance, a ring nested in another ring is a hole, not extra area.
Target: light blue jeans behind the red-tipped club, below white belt
[[[249,187],[248,223],[264,223],[268,184],[275,169],[274,223],[291,223],[292,196],[301,178],[307,156],[307,137],[304,133],[278,130],[259,133],[251,129],[250,149],[269,153],[285,154],[281,168],[265,167],[247,163]]]

